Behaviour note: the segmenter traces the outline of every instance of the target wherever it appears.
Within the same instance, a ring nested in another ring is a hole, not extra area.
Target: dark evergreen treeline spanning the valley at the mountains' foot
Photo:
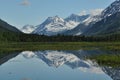
[[[8,42],[99,42],[99,41],[120,41],[119,34],[112,34],[107,36],[45,36],[35,34],[19,34],[13,32],[0,33],[0,41]]]

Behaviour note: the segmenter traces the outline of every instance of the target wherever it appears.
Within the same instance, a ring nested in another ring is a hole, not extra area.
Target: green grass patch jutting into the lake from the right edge
[[[120,67],[120,54],[103,54],[91,56],[90,59],[102,66]]]

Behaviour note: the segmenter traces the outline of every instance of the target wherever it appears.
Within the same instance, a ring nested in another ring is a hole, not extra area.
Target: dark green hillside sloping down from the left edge
[[[22,34],[22,32],[0,19],[0,42],[18,41],[18,34]]]

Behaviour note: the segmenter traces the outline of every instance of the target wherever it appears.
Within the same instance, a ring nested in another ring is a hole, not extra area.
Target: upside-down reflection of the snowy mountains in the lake
[[[82,72],[96,73],[96,74],[107,74],[113,80],[120,80],[120,68],[103,67],[99,66],[95,61],[85,59],[88,55],[104,54],[105,52],[99,50],[91,51],[25,51],[22,55],[26,59],[38,58],[44,61],[48,66],[58,68],[62,65],[67,65],[72,69],[79,69]],[[108,54],[114,52],[108,51]]]

